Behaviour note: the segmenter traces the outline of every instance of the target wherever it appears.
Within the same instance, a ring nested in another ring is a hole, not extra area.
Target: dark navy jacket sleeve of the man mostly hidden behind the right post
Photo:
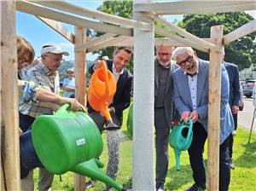
[[[238,107],[239,100],[240,100],[240,97],[241,97],[238,67],[234,67],[234,81],[233,81],[232,85],[233,85],[233,96],[234,96],[233,101],[232,101],[232,105],[235,105],[235,106]],[[231,94],[231,92],[230,92],[230,94]]]

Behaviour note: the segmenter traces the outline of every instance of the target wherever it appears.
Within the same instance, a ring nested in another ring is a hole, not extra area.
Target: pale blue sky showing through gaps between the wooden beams
[[[88,9],[97,9],[101,4],[102,0],[87,0],[87,1],[72,1],[72,3],[83,6]],[[249,11],[248,14],[253,15],[256,18],[256,11]],[[166,20],[182,20],[183,15],[167,15]],[[64,24],[70,32],[73,32],[74,27],[68,24]],[[16,34],[26,38],[27,41],[32,43],[33,48],[36,52],[36,57],[40,56],[40,50],[44,44],[55,43],[61,46],[69,52],[69,56],[64,55],[65,60],[74,59],[73,43],[67,41],[59,33],[55,32],[52,28],[44,24],[41,20],[38,20],[32,14],[25,14],[20,11],[16,11]],[[96,60],[97,55],[87,54],[87,60]]]

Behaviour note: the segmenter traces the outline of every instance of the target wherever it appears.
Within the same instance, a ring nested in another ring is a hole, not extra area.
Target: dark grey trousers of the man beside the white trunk
[[[168,171],[168,137],[170,127],[166,123],[164,108],[154,110],[155,149],[156,149],[156,188],[166,182]]]

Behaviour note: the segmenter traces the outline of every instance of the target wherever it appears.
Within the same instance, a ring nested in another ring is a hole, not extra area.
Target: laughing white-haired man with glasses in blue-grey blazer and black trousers
[[[179,47],[172,56],[180,67],[172,74],[175,107],[181,114],[181,119],[187,122],[191,118],[194,122],[189,161],[195,184],[187,190],[202,190],[206,189],[206,170],[202,154],[208,128],[209,63],[199,59],[190,47]],[[222,67],[219,140],[219,190],[222,191],[228,190],[230,184],[229,136],[234,128],[229,90],[228,74]]]

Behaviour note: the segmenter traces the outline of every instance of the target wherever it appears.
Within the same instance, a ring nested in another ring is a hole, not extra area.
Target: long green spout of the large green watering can
[[[122,185],[115,182],[112,178],[108,177],[102,171],[100,168],[103,167],[103,164],[98,159],[90,159],[88,161],[84,161],[83,163],[80,163],[79,165],[75,165],[71,171],[76,172],[78,174],[84,175],[86,177],[91,177],[95,180],[105,182],[109,186],[121,191],[125,190]]]

